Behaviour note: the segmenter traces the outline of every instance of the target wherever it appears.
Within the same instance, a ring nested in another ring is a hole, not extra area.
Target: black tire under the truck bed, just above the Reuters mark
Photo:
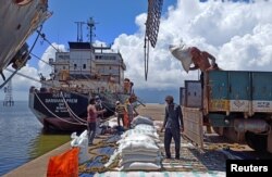
[[[267,135],[257,135],[250,131],[247,131],[245,135],[247,144],[259,152],[265,152],[268,146],[268,136]]]

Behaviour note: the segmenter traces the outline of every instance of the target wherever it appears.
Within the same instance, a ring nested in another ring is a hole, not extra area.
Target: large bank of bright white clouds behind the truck
[[[185,73],[168,50],[183,40],[217,58],[223,69],[269,71],[272,64],[272,2],[220,2],[178,0],[161,18],[154,49],[150,50],[148,80],[144,76],[146,14],[136,17],[139,30],[120,35],[113,47],[127,65],[125,73],[139,89],[171,89],[184,79],[197,79],[198,72]]]

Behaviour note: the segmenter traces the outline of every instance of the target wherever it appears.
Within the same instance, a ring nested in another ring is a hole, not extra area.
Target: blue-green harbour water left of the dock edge
[[[0,101],[0,176],[67,142],[70,135],[45,134],[25,101]]]

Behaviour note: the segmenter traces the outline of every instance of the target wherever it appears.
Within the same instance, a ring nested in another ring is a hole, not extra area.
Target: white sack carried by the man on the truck
[[[170,45],[169,50],[178,61],[182,62],[183,68],[188,73],[189,66],[193,63],[189,47],[184,43]]]

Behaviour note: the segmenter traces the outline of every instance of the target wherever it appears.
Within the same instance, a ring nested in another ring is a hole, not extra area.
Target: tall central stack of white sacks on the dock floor
[[[121,170],[158,170],[162,155],[159,135],[152,119],[137,116],[132,122],[133,129],[125,131],[118,141]]]

